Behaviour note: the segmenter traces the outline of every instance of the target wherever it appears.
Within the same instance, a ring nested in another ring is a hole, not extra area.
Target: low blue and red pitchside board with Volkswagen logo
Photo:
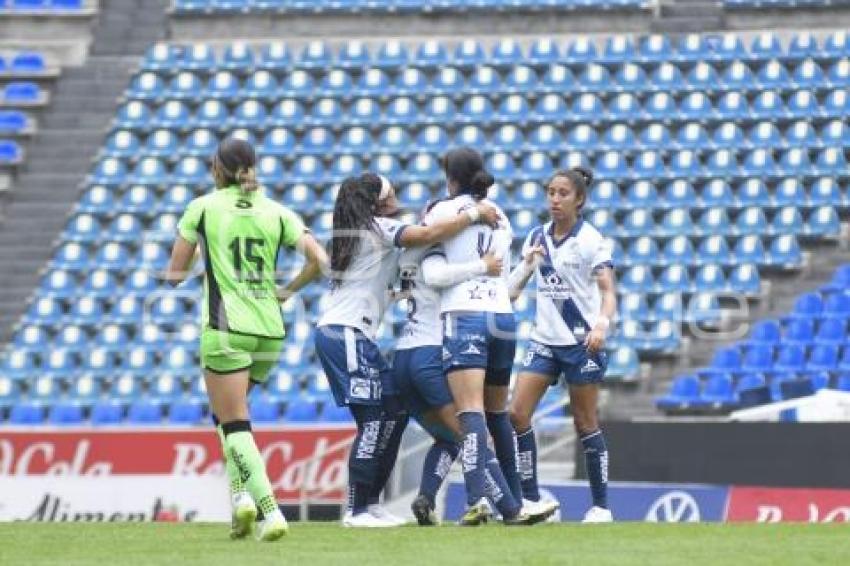
[[[544,483],[541,495],[561,504],[555,521],[580,521],[592,505],[586,482]],[[850,490],[846,489],[612,482],[608,504],[616,521],[850,522]],[[446,490],[444,518],[459,519],[465,507],[463,483],[453,482]]]

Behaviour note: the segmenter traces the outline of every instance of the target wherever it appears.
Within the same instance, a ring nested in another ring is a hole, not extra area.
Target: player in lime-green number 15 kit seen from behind
[[[275,266],[281,248],[306,257],[303,270],[281,291],[286,297],[315,279],[327,254],[301,219],[258,191],[256,155],[228,138],[213,157],[216,189],[194,199],[178,224],[165,279],[182,282],[200,244],[205,264],[201,363],[231,484],[231,538],[251,533],[277,540],[288,531],[266,475],[248,416],[247,392],[262,383],[283,346]]]

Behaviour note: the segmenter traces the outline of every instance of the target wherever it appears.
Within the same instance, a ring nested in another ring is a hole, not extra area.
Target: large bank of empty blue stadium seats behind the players
[[[734,34],[152,46],[0,364],[11,383],[7,405],[72,398],[93,419],[93,390],[120,404],[118,418],[205,418],[196,407],[205,398],[200,281],[169,293],[150,273],[165,265],[186,204],[209,190],[208,159],[225,135],[255,144],[265,190],[319,237],[329,234],[346,176],[383,173],[418,210],[443,190],[441,153],[464,144],[484,152],[497,179],[490,197],[510,216],[518,247],[545,206],[549,174],[592,167],[598,181],[585,218],[614,240],[620,293],[609,376],[635,379],[641,357],[679,351],[682,322],[718,319],[718,295],[757,297],[768,269],[799,269],[806,242],[839,237],[850,208],[844,37],[777,39],[778,50],[771,36],[745,43]],[[281,256],[279,269],[297,269]],[[286,308],[287,349],[256,389],[259,416],[339,417],[312,349],[322,290],[301,294],[305,319]],[[844,308],[834,295],[822,301]],[[516,311],[519,360],[533,297]],[[404,312],[388,312],[382,346],[392,344]],[[783,321],[780,334],[793,324]],[[840,334],[832,323],[812,324],[813,337]],[[45,350],[45,337],[57,346]],[[743,391],[792,394],[770,389],[768,361],[781,355],[794,375],[802,364],[815,384],[821,368],[845,355],[843,346],[760,348],[738,347],[737,361],[724,358],[725,373],[683,380],[667,406],[690,407],[696,396],[700,410],[725,411]],[[764,382],[742,380],[734,363]],[[39,390],[39,376],[52,386]],[[115,409],[98,410],[115,418]]]

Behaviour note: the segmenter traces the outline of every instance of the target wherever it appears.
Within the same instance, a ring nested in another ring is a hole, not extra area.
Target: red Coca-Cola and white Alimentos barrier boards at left
[[[275,496],[290,515],[339,515],[353,425],[254,432]],[[99,502],[87,493],[99,494]],[[219,496],[223,515],[212,502]],[[318,515],[308,504],[318,506]],[[141,520],[149,520],[171,507],[180,520],[227,520],[228,505],[212,427],[0,432],[0,520],[108,520],[102,517],[113,514],[115,520],[140,520],[142,512]]]

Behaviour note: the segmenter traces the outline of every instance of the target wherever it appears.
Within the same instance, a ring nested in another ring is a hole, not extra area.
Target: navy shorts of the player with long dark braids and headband
[[[316,354],[328,377],[336,404],[380,405],[396,393],[392,372],[378,345],[348,326],[321,326]]]

